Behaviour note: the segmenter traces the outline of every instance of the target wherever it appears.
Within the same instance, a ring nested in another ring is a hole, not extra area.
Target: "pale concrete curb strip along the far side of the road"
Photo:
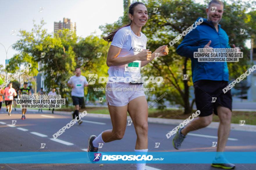
[[[17,110],[20,110],[20,108],[17,108]],[[27,109],[28,111],[34,111],[34,112],[38,112],[38,109]],[[52,114],[51,110],[43,110],[43,112],[38,112],[41,114]],[[60,114],[60,115],[70,115],[71,116],[71,112],[70,111],[54,111],[54,114]],[[88,113],[87,116],[90,117],[98,117],[98,118],[109,118],[110,119],[110,115],[109,114],[95,114],[95,113]],[[127,116],[127,120],[131,120],[130,116]],[[158,124],[164,124],[164,125],[179,125],[180,123],[182,123],[184,120],[182,119],[166,119],[166,118],[148,118],[148,123],[158,123]],[[209,128],[218,128],[219,126],[219,122],[212,122],[210,125],[208,125],[207,127]],[[245,131],[252,131],[252,132],[256,132],[256,125],[245,125],[245,126],[239,126],[239,124],[235,124],[235,123],[231,123],[231,130],[245,130]]]

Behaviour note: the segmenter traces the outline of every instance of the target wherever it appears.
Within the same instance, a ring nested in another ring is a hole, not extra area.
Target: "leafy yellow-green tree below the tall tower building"
[[[77,36],[69,34],[69,30],[59,30],[55,36],[48,34],[43,28],[45,22],[35,24],[31,31],[20,30],[20,39],[15,43],[14,49],[19,51],[8,65],[8,69],[15,72],[21,65],[32,63],[29,70],[30,76],[36,76],[42,71],[45,86],[50,88],[60,87],[61,95],[66,98],[68,89],[61,84],[76,67],[75,53],[72,45],[77,41]],[[45,53],[45,56],[41,54]],[[16,64],[18,63],[18,64]],[[38,63],[42,65],[38,68]]]

